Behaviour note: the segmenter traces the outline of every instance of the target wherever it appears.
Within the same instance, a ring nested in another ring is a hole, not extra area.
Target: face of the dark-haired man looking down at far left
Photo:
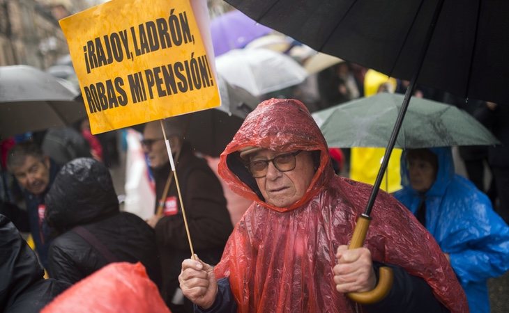
[[[22,166],[13,168],[13,175],[26,191],[40,195],[50,184],[50,159],[40,161],[31,155],[26,156]]]

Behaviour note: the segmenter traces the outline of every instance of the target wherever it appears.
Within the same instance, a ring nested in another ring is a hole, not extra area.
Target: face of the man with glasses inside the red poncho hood
[[[250,161],[273,159],[288,152],[275,152],[260,150],[250,157]],[[294,170],[281,172],[275,168],[273,162],[268,163],[267,175],[255,178],[261,194],[268,204],[275,207],[288,207],[300,200],[307,187],[310,186],[314,176],[314,167],[311,152],[303,151],[295,156]]]

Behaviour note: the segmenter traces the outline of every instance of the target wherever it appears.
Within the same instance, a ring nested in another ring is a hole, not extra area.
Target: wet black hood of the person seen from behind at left
[[[45,217],[57,232],[118,213],[119,200],[109,170],[94,159],[66,163],[46,195]]]

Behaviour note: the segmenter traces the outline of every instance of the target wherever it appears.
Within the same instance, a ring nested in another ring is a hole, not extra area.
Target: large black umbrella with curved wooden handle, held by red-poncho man
[[[391,77],[411,79],[350,248],[363,246],[383,172],[416,83],[465,98],[507,101],[508,1],[226,1],[260,24],[318,51]],[[382,274],[379,282],[385,277]],[[351,293],[349,297],[360,303],[373,303],[387,291],[376,287],[369,293]]]

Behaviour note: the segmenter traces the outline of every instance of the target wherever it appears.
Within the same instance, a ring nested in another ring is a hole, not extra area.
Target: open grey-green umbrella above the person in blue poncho
[[[403,95],[379,93],[313,113],[331,147],[386,147]],[[500,142],[469,113],[455,106],[412,97],[397,136],[402,149]]]

